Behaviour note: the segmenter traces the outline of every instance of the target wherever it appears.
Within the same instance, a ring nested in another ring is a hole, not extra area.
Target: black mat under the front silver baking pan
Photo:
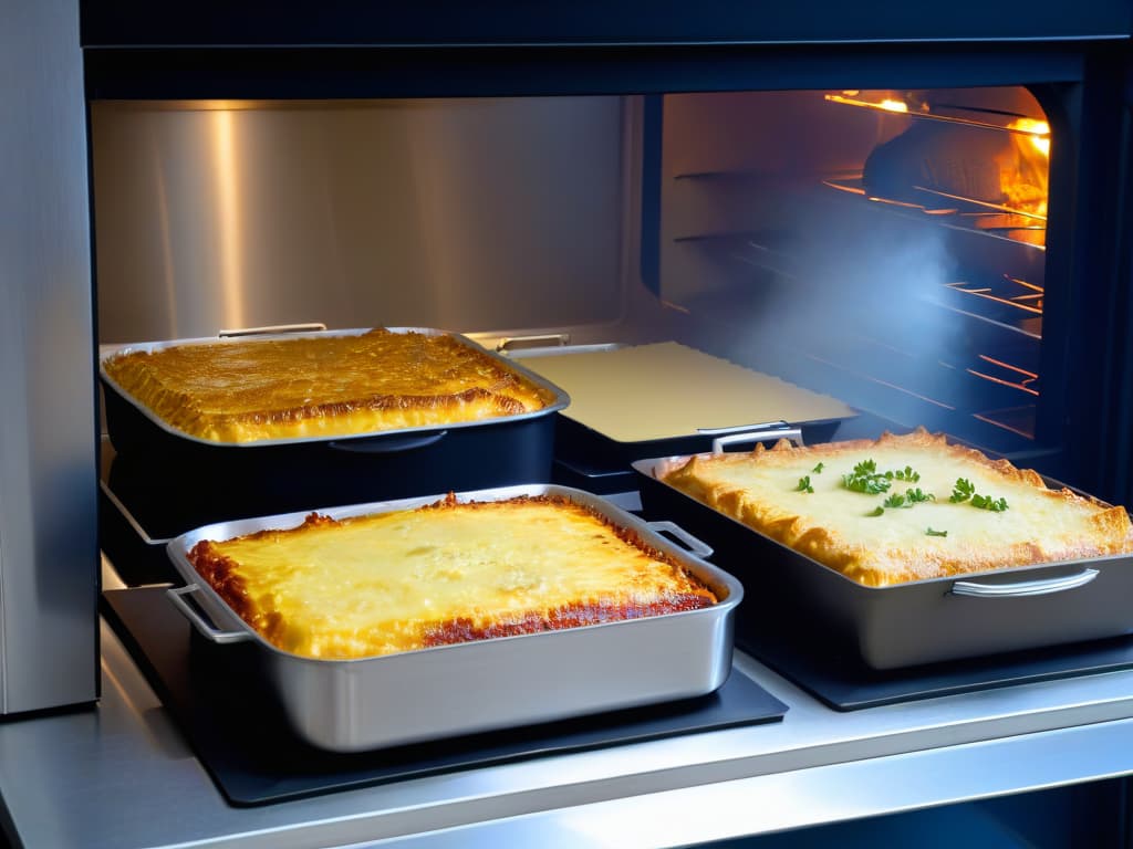
[[[221,792],[263,805],[335,790],[486,766],[537,755],[639,743],[781,720],[786,705],[739,671],[713,694],[649,707],[366,753],[299,740],[235,672],[250,643],[196,635],[161,588],[108,590],[103,615],[129,648]],[[236,651],[233,651],[236,650]]]

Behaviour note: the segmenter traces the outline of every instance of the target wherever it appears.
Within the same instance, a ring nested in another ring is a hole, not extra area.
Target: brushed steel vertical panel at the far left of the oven
[[[78,3],[0,2],[0,714],[97,694]]]

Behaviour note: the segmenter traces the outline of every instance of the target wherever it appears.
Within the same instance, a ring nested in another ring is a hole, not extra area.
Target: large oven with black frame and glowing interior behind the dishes
[[[155,50],[99,8],[102,343],[359,318],[520,355],[675,338],[840,397],[858,431],[1130,495],[1128,59],[1100,20],[383,50],[304,49],[281,16],[257,38],[295,46]],[[406,26],[381,32],[424,38]]]

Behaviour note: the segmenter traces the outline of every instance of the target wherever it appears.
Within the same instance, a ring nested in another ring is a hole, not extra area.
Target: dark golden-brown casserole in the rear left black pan
[[[350,436],[537,411],[554,401],[450,335],[393,333],[171,345],[109,358],[123,392],[219,443]]]

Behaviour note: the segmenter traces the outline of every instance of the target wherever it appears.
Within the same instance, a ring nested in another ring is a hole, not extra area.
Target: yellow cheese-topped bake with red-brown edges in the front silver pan
[[[351,659],[716,603],[673,558],[568,499],[458,503],[204,540],[197,573],[283,651]]]

